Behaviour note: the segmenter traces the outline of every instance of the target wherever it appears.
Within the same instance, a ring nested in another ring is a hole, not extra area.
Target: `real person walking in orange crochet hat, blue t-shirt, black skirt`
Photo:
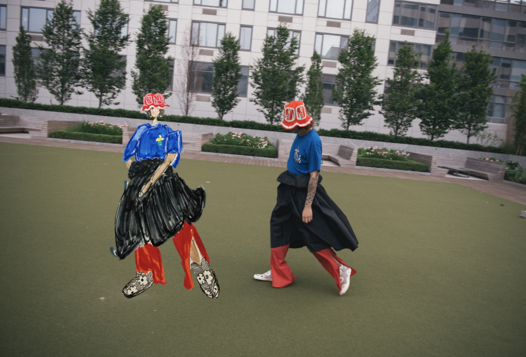
[[[287,161],[287,171],[278,177],[277,203],[270,218],[270,270],[254,279],[285,287],[295,280],[285,261],[289,248],[307,246],[336,281],[338,292],[349,289],[356,270],[334,250],[354,251],[358,240],[347,217],[320,184],[321,140],[313,129],[303,102],[285,105],[281,126],[296,133]],[[334,250],[333,250],[334,249]]]

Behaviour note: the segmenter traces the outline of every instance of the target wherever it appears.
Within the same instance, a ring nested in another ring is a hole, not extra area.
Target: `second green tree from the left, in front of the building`
[[[57,4],[53,17],[42,29],[47,48],[38,46],[38,76],[60,105],[69,101],[73,93],[82,94],[75,90],[79,80],[80,32],[72,3],[66,0]]]

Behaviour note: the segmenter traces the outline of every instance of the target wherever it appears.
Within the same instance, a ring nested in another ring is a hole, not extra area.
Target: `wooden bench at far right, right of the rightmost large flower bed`
[[[445,176],[449,172],[449,168],[454,167],[460,170],[468,170],[472,176],[482,177],[489,181],[502,182],[506,172],[506,164],[503,162],[492,162],[465,156],[432,155],[414,152],[409,152],[408,154],[410,160],[426,164],[428,172],[433,176]]]

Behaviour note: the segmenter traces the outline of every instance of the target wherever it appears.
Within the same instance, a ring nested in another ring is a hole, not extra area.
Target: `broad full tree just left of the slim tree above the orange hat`
[[[263,57],[256,59],[251,66],[250,85],[254,88],[255,98],[250,102],[259,105],[257,110],[265,116],[270,124],[280,122],[283,108],[294,101],[298,95],[298,84],[304,82],[304,66],[295,67],[298,39],[292,36],[289,41],[289,30],[284,24],[276,28],[276,36],[265,38]]]

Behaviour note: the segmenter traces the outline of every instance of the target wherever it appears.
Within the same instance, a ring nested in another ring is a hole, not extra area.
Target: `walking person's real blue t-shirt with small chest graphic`
[[[320,171],[321,139],[318,133],[311,129],[307,134],[296,135],[290,149],[287,170],[295,175]]]

